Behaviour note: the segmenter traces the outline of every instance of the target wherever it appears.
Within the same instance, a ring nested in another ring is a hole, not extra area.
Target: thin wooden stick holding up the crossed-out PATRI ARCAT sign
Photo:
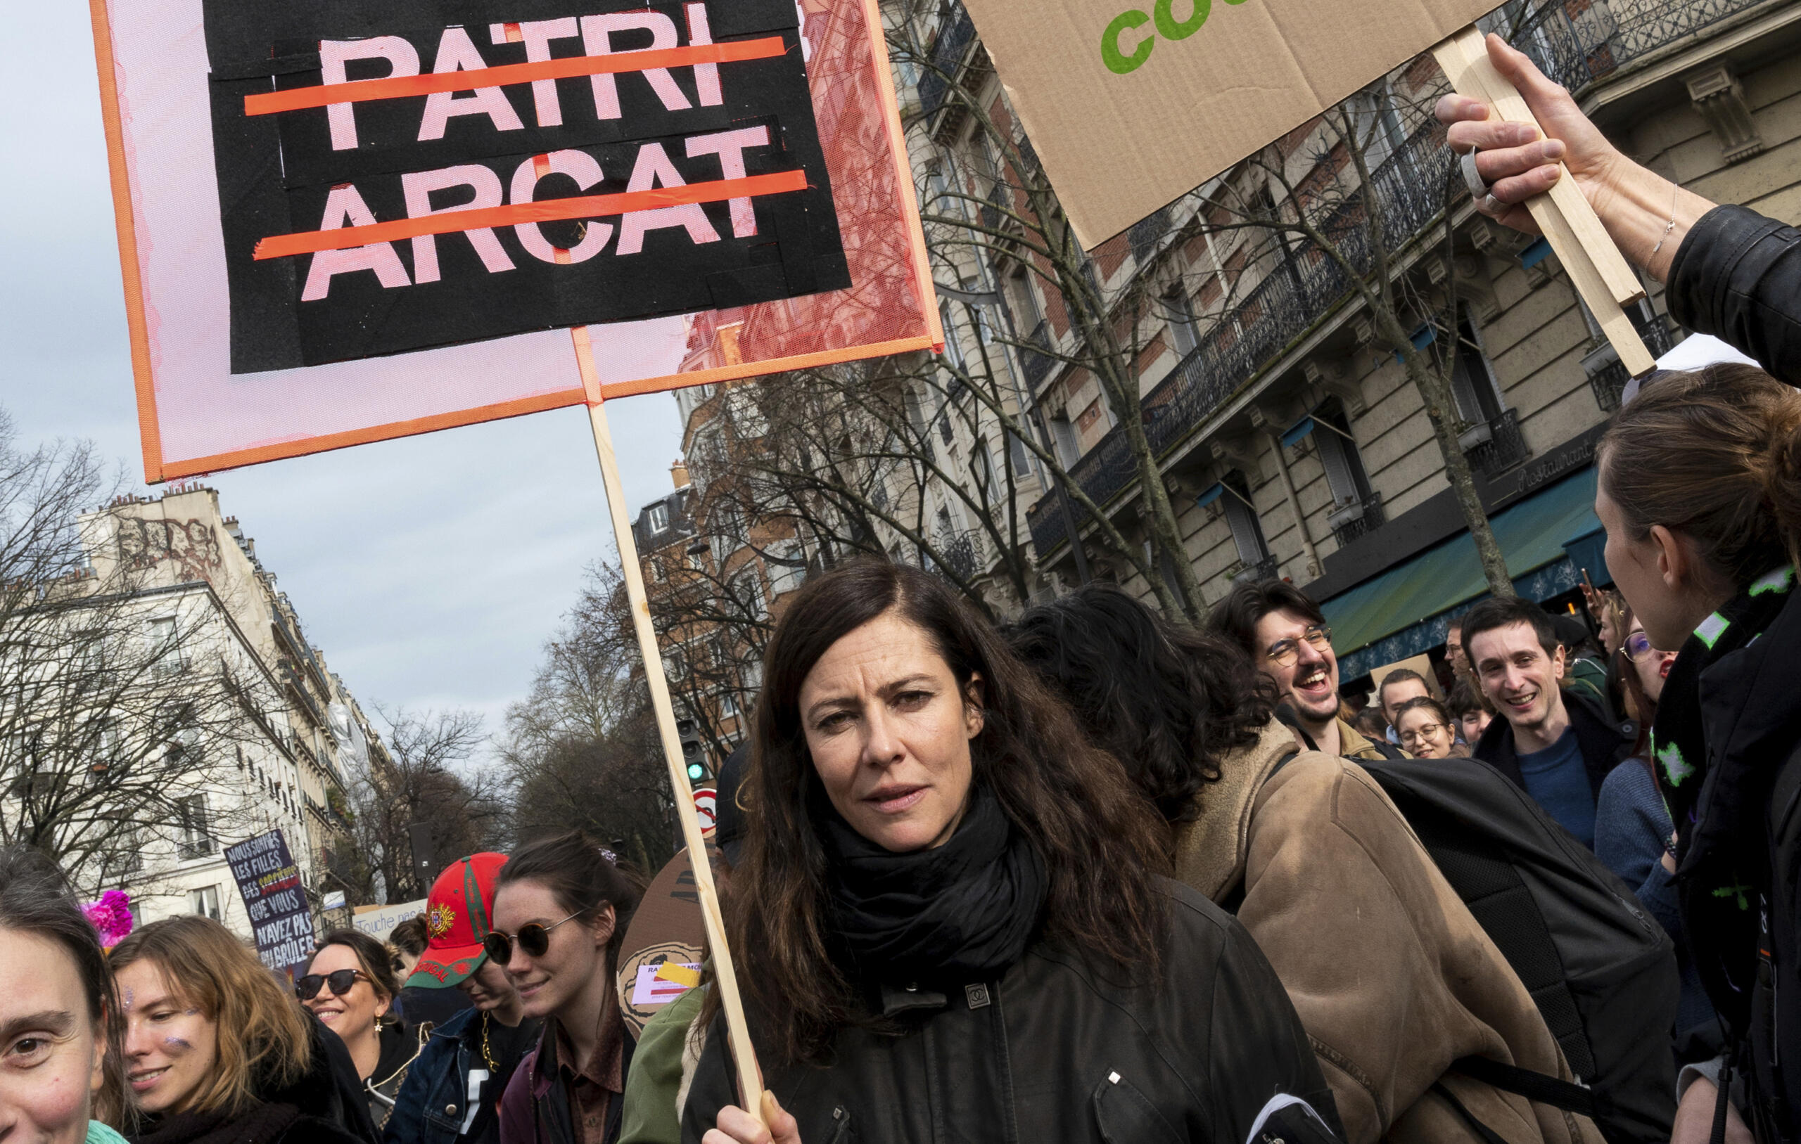
[[[600,374],[594,371],[594,347],[587,326],[573,326],[575,358],[582,369],[582,387],[587,390],[587,419],[594,430],[594,451],[600,455],[600,478],[607,487],[607,514],[612,518],[612,538],[620,545],[620,570],[625,574],[625,597],[632,606],[632,628],[638,631],[638,653],[645,660],[645,682],[650,685],[650,707],[663,736],[663,759],[670,768],[670,788],[675,791],[675,817],[681,818],[681,836],[688,845],[688,865],[701,896],[701,919],[706,925],[706,944],[713,957],[713,977],[719,998],[726,1007],[726,1032],[731,1058],[738,1068],[738,1095],[744,1110],[764,1119],[764,1083],[756,1068],[756,1050],[744,1022],[744,1002],[738,997],[738,977],[731,966],[731,946],[726,944],[726,919],[719,910],[719,889],[713,885],[713,867],[701,838],[701,820],[695,817],[693,788],[683,764],[681,736],[675,730],[675,705],[670,702],[670,684],[663,675],[663,651],[657,648],[657,630],[650,622],[650,597],[645,594],[645,574],[638,565],[638,541],[625,513],[625,487],[620,484],[620,459],[612,451],[612,430],[607,428],[607,410],[600,396]]]

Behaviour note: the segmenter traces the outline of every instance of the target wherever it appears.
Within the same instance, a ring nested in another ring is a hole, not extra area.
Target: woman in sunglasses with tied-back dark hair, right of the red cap
[[[515,851],[493,880],[483,950],[544,1018],[501,1097],[501,1144],[611,1144],[632,1043],[614,977],[643,887],[612,851],[567,831]]]

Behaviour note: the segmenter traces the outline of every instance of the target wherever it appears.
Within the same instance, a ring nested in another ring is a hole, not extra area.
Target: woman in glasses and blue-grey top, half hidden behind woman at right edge
[[[1670,806],[1657,788],[1652,764],[1652,725],[1657,700],[1675,666],[1675,651],[1652,648],[1652,637],[1632,608],[1619,608],[1625,639],[1614,653],[1612,675],[1621,680],[1626,718],[1639,727],[1632,757],[1608,772],[1594,802],[1594,856],[1632,887],[1639,903],[1670,932],[1682,971],[1677,1005],[1677,1061],[1698,1061],[1720,1050],[1720,1018],[1682,941],[1682,910],[1677,903],[1677,833]]]

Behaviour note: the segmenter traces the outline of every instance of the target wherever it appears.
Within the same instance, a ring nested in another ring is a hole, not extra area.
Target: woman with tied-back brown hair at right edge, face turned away
[[[1596,450],[1606,568],[1677,649],[1648,743],[1689,952],[1751,1086],[1758,1140],[1801,1122],[1801,392],[1749,365],[1664,374]],[[1729,1056],[1731,1056],[1729,1054]],[[1704,1139],[1713,1083],[1684,1094]],[[1695,1133],[1689,1137],[1688,1133]]]

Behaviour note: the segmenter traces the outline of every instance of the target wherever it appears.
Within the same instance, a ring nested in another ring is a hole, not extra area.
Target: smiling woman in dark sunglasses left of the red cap
[[[427,1025],[409,1036],[398,1020],[387,1020],[400,993],[387,950],[360,930],[331,930],[294,980],[294,993],[349,1049],[369,1119],[380,1130],[394,1110],[407,1067],[430,1034]]]

